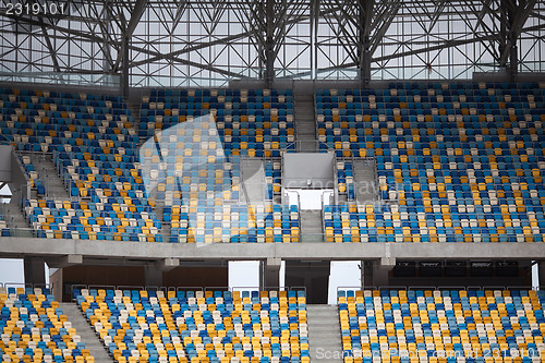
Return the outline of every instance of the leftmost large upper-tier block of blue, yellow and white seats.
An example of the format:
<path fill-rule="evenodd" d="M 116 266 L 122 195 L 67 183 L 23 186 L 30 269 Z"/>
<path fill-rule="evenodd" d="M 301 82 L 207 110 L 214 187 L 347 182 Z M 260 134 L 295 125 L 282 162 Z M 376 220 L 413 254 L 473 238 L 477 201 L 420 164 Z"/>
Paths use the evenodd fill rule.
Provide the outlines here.
<path fill-rule="evenodd" d="M 25 201 L 38 237 L 160 241 L 144 195 L 140 143 L 119 96 L 0 89 L 0 129 L 20 153 L 51 153 L 75 201 Z M 45 187 L 21 156 L 38 196 Z"/>

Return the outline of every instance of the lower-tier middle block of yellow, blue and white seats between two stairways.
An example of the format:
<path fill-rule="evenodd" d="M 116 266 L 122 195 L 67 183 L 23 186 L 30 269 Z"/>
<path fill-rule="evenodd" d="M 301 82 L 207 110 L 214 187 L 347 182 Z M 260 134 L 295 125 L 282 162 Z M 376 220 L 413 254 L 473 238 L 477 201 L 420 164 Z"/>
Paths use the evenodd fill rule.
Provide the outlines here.
<path fill-rule="evenodd" d="M 303 291 L 74 294 L 117 362 L 308 362 Z"/>

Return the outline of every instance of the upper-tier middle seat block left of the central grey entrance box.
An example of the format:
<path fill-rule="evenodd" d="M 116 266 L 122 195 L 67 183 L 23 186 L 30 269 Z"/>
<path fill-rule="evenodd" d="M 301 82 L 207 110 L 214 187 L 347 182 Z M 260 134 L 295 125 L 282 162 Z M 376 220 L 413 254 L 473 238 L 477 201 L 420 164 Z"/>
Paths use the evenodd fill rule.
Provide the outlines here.
<path fill-rule="evenodd" d="M 157 99 L 162 97 L 157 96 L 159 92 L 155 92 L 153 101 L 143 108 L 144 120 L 149 120 L 149 113 L 155 114 L 157 120 L 169 120 L 147 122 L 147 126 L 152 128 L 148 130 L 154 131 L 157 126 L 164 130 L 155 130 L 154 137 L 143 144 L 141 165 L 145 169 L 144 182 L 148 196 L 165 201 L 164 220 L 170 223 L 170 242 L 298 242 L 296 207 L 272 206 L 271 203 L 275 192 L 280 192 L 280 162 L 264 161 L 265 195 L 258 199 L 249 199 L 249 194 L 243 191 L 241 176 L 242 156 L 267 154 L 259 154 L 259 147 L 270 144 L 264 141 L 265 136 L 268 135 L 270 140 L 280 137 L 272 143 L 282 148 L 287 146 L 281 138 L 282 130 L 287 131 L 289 126 L 288 130 L 292 131 L 293 123 L 288 125 L 279 120 L 287 118 L 287 111 L 291 112 L 291 100 L 286 100 L 287 97 L 281 95 L 262 97 L 251 92 L 250 96 L 242 96 L 243 92 L 226 89 L 196 92 L 199 96 L 189 96 L 189 93 L 191 90 L 175 93 L 180 99 L 191 99 L 193 106 L 189 109 L 173 111 L 167 106 L 166 109 L 162 106 L 157 109 Z M 214 96 L 214 93 L 220 95 Z M 232 95 L 225 96 L 229 93 Z M 234 113 L 231 112 L 233 108 L 227 106 L 233 102 L 233 97 L 238 99 L 234 104 L 239 105 L 234 107 Z M 278 105 L 272 106 L 277 108 L 282 106 L 281 114 L 278 114 L 278 109 L 270 111 L 267 101 L 256 102 L 259 97 L 274 99 Z M 245 100 L 242 101 L 243 98 Z M 204 107 L 210 99 L 214 99 L 214 108 Z M 184 105 L 186 102 L 182 101 Z M 170 101 L 166 105 L 174 107 Z M 265 114 L 262 112 L 264 110 L 270 112 Z M 171 112 L 190 113 L 186 118 L 177 117 L 173 120 L 170 114 L 165 114 Z M 276 129 L 264 134 L 265 123 L 276 124 Z M 256 124 L 261 124 L 259 132 L 255 129 Z M 146 123 L 141 124 L 141 128 Z M 250 141 L 244 142 L 241 141 L 243 136 L 234 136 L 239 131 L 240 134 L 249 134 Z M 275 150 L 279 149 L 275 146 Z M 272 152 L 268 155 L 278 156 Z"/>

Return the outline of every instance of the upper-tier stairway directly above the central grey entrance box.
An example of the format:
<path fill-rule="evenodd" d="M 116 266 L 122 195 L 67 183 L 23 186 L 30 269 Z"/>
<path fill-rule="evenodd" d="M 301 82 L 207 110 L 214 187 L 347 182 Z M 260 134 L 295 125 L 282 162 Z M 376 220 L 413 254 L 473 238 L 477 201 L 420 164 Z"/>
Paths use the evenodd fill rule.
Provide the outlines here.
<path fill-rule="evenodd" d="M 316 122 L 314 95 L 294 95 L 296 149 L 302 153 L 316 150 Z"/>

